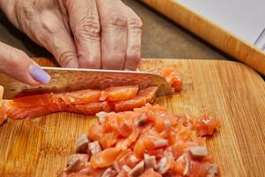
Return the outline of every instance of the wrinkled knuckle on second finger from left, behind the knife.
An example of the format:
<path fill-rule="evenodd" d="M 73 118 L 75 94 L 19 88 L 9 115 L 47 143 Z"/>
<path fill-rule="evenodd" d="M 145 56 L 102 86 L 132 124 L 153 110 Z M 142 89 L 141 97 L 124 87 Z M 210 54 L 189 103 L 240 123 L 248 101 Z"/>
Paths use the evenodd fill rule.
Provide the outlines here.
<path fill-rule="evenodd" d="M 75 36 L 85 40 L 100 40 L 101 26 L 99 19 L 83 18 L 80 20 L 79 25 L 73 32 Z"/>

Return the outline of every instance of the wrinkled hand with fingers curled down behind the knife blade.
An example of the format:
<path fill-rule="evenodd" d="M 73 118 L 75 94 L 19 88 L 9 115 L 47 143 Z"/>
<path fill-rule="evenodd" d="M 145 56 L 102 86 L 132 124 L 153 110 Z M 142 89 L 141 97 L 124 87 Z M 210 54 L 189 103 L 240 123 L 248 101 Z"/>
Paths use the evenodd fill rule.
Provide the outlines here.
<path fill-rule="evenodd" d="M 136 70 L 140 18 L 121 0 L 0 0 L 11 22 L 65 67 Z"/>

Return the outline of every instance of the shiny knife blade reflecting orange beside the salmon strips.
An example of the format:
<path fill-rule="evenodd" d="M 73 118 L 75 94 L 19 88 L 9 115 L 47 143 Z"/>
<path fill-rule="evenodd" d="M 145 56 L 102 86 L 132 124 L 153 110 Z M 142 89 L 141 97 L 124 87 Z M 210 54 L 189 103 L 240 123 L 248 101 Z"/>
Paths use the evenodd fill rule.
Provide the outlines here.
<path fill-rule="evenodd" d="M 42 67 L 51 76 L 47 85 L 29 86 L 9 76 L 0 74 L 0 85 L 4 86 L 4 99 L 42 93 L 64 93 L 80 89 L 106 89 L 110 86 L 138 85 L 140 89 L 159 86 L 157 96 L 173 94 L 169 83 L 160 75 L 147 72 L 70 69 Z"/>

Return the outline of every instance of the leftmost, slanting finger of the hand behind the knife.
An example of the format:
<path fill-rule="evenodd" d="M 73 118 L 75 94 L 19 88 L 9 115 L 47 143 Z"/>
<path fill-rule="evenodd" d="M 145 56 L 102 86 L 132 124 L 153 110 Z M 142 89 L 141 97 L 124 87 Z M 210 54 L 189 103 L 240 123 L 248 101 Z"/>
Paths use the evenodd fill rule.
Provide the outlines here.
<path fill-rule="evenodd" d="M 56 13 L 42 12 L 40 34 L 37 41 L 49 50 L 63 67 L 79 67 L 78 57 L 71 32 Z M 35 32 L 36 33 L 36 32 Z"/>

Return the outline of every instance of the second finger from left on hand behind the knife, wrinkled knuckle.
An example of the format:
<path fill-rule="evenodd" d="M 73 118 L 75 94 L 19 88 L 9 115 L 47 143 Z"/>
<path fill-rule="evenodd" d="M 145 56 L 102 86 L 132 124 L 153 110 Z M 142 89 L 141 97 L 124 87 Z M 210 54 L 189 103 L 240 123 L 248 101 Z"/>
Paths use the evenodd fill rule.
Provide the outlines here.
<path fill-rule="evenodd" d="M 65 6 L 77 47 L 79 67 L 100 69 L 101 27 L 95 0 L 68 0 Z"/>

